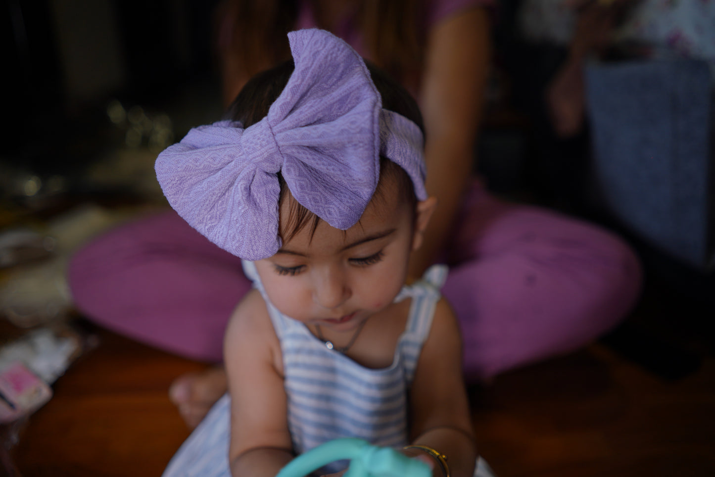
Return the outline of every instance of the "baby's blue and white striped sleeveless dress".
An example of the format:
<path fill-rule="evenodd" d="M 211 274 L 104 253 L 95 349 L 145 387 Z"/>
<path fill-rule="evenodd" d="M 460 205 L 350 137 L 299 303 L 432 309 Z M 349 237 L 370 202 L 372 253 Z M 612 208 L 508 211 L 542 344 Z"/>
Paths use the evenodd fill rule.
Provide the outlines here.
<path fill-rule="evenodd" d="M 266 300 L 280 340 L 288 424 L 296 453 L 340 437 L 363 438 L 377 446 L 405 446 L 407 392 L 430 332 L 447 268 L 431 267 L 422 280 L 405 285 L 395 298 L 398 302 L 410 297 L 412 303 L 393 364 L 383 369 L 365 368 L 342 353 L 327 349 L 303 323 L 282 315 L 267 300 L 252 262 L 244 262 L 244 270 Z M 225 395 L 179 448 L 164 477 L 230 477 L 229 438 L 230 398 Z M 345 462 L 336 462 L 323 471 L 342 468 Z"/>

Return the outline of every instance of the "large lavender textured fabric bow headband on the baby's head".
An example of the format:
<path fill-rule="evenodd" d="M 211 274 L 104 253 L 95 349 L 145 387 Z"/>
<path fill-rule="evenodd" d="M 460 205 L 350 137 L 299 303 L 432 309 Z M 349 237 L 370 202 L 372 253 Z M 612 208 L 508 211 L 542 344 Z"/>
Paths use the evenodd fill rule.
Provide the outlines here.
<path fill-rule="evenodd" d="M 380 154 L 410 175 L 425 200 L 418 126 L 382 109 L 363 59 L 327 31 L 288 34 L 295 70 L 260 122 L 192 129 L 164 150 L 157 179 L 174 210 L 233 255 L 260 260 L 281 247 L 281 172 L 293 197 L 332 227 L 363 215 L 380 178 Z"/>

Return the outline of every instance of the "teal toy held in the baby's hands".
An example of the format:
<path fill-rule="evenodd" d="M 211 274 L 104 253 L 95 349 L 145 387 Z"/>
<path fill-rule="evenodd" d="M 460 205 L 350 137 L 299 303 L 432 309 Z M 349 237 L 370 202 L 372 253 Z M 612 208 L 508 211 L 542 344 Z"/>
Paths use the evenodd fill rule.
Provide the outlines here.
<path fill-rule="evenodd" d="M 344 477 L 432 477 L 430 467 L 389 447 L 342 438 L 328 441 L 290 461 L 276 477 L 304 477 L 331 462 L 350 459 Z"/>

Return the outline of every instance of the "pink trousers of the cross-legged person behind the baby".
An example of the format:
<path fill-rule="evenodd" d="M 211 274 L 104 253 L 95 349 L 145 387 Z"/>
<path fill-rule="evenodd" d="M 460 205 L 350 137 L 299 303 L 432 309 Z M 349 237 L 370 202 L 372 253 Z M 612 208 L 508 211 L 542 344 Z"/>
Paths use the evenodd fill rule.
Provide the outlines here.
<path fill-rule="evenodd" d="M 641 268 L 618 237 L 475 182 L 445 250 L 443 294 L 461 323 L 465 375 L 567 353 L 635 303 Z M 218 362 L 227 320 L 250 289 L 241 261 L 174 211 L 107 232 L 74 255 L 77 308 L 106 328 L 188 358 Z"/>

